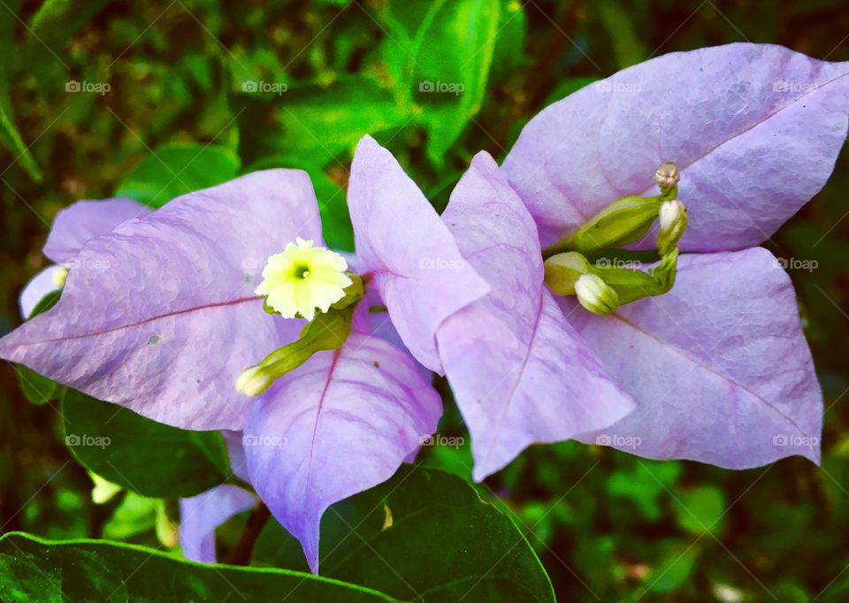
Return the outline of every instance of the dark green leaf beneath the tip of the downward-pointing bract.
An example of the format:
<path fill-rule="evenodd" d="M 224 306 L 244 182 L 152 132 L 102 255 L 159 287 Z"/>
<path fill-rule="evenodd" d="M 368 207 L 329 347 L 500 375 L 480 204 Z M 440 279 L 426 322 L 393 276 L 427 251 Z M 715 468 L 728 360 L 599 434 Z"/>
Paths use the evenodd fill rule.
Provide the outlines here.
<path fill-rule="evenodd" d="M 321 523 L 319 569 L 403 600 L 553 601 L 539 559 L 516 525 L 463 479 L 402 466 L 343 500 Z M 253 559 L 305 567 L 300 546 L 266 527 Z"/>

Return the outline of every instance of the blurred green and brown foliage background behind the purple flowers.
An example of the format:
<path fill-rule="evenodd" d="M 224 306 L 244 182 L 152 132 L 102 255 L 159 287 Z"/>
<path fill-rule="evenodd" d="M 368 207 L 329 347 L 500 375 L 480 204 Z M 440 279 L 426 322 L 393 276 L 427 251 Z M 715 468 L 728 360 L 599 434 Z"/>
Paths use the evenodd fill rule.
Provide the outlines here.
<path fill-rule="evenodd" d="M 744 40 L 847 60 L 847 31 L 834 0 L 4 0 L 0 331 L 19 324 L 18 292 L 45 265 L 52 217 L 74 200 L 159 205 L 236 173 L 298 167 L 326 239 L 351 248 L 343 189 L 363 134 L 441 210 L 470 156 L 503 157 L 547 103 L 617 69 Z M 514 517 L 561 600 L 849 598 L 847 188 L 844 152 L 767 245 L 810 261 L 790 272 L 825 393 L 822 468 L 794 458 L 735 472 L 574 442 L 532 448 L 478 490 Z M 2 370 L 3 530 L 168 540 L 161 525 L 157 538 L 161 500 L 91 501 L 55 392 L 33 377 L 22 393 Z M 440 432 L 468 438 L 450 400 Z M 423 458 L 470 477 L 468 439 Z"/>

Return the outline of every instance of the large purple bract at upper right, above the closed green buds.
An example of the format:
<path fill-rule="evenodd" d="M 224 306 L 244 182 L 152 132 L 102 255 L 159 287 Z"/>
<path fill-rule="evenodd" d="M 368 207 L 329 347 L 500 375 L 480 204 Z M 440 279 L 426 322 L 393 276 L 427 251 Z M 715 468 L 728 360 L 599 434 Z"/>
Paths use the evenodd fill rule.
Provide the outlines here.
<path fill-rule="evenodd" d="M 654 169 L 675 161 L 680 248 L 746 248 L 825 184 L 847 111 L 849 63 L 767 44 L 675 52 L 541 111 L 503 169 L 547 246 L 620 197 L 656 194 Z"/>

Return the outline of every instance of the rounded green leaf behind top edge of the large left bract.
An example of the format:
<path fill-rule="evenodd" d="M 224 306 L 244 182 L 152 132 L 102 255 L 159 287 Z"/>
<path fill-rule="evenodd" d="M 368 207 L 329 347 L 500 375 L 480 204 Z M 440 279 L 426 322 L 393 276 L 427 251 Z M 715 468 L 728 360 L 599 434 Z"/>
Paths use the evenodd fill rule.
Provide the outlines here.
<path fill-rule="evenodd" d="M 121 180 L 115 196 L 158 208 L 180 195 L 233 179 L 240 168 L 239 156 L 226 147 L 172 142 L 145 157 Z"/>

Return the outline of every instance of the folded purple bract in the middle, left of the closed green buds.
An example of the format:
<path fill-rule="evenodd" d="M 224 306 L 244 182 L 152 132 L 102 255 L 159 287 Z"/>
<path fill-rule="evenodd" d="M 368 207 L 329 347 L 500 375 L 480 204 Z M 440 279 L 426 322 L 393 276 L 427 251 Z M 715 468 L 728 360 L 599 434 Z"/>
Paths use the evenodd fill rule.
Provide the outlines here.
<path fill-rule="evenodd" d="M 481 480 L 534 443 L 606 427 L 633 408 L 543 288 L 537 229 L 478 153 L 442 216 L 492 292 L 437 333 Z"/>

